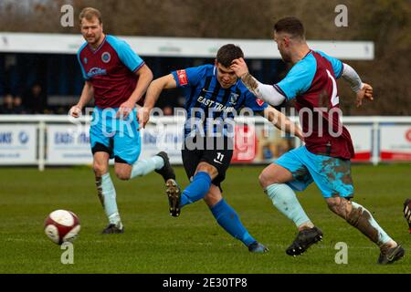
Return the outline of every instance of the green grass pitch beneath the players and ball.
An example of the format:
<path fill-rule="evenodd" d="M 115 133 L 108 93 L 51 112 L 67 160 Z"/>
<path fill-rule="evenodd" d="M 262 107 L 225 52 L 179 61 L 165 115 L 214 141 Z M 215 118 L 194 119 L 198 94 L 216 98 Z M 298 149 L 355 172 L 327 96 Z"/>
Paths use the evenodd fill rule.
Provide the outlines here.
<path fill-rule="evenodd" d="M 90 168 L 1 168 L 0 273 L 410 273 L 411 235 L 402 214 L 403 202 L 411 197 L 409 164 L 353 166 L 355 201 L 406 248 L 406 256 L 390 266 L 376 264 L 378 248 L 332 214 L 314 185 L 299 198 L 322 229 L 323 241 L 304 255 L 286 255 L 296 229 L 261 191 L 262 169 L 231 167 L 223 184 L 227 202 L 250 234 L 269 247 L 269 253 L 255 255 L 216 224 L 203 202 L 171 217 L 157 173 L 130 182 L 113 179 L 125 233 L 100 235 L 107 220 Z M 176 172 L 184 187 L 183 168 Z M 61 264 L 64 250 L 43 232 L 47 214 L 56 209 L 79 215 L 74 265 Z M 348 245 L 347 265 L 334 261 L 338 242 Z"/>

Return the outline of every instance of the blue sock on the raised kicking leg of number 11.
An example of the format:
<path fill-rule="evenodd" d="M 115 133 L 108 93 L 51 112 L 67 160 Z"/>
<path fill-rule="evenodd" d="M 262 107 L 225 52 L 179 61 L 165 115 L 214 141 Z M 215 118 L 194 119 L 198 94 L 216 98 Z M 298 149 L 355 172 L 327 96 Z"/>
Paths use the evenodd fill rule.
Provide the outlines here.
<path fill-rule="evenodd" d="M 191 182 L 181 194 L 180 207 L 186 204 L 195 203 L 203 199 L 211 187 L 211 177 L 207 172 L 197 172 Z"/>

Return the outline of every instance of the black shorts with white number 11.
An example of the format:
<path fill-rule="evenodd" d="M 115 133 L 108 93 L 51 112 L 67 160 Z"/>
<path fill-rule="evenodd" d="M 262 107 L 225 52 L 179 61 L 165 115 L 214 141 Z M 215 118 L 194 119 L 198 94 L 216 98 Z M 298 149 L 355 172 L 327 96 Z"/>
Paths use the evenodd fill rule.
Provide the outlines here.
<path fill-rule="evenodd" d="M 184 170 L 188 179 L 191 181 L 200 162 L 207 162 L 213 165 L 216 167 L 218 174 L 212 183 L 221 190 L 220 183 L 226 178 L 226 172 L 233 157 L 232 141 L 227 138 L 224 138 L 224 141 L 221 141 L 221 138 L 219 139 L 220 141 L 216 141 L 216 138 L 207 138 L 206 140 L 207 141 L 204 139 L 204 141 L 200 143 L 203 143 L 204 147 L 199 147 L 194 150 L 186 147 L 186 143 L 184 142 L 183 150 L 181 151 Z M 210 145 L 213 145 L 213 147 Z"/>

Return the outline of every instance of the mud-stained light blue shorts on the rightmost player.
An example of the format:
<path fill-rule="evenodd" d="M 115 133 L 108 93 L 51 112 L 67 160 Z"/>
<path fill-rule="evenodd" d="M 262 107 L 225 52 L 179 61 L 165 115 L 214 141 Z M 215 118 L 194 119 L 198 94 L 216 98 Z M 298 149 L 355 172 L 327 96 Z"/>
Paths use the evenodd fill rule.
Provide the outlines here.
<path fill-rule="evenodd" d="M 303 191 L 315 182 L 324 198 L 353 197 L 350 160 L 313 154 L 301 146 L 288 151 L 274 163 L 292 173 L 294 180 L 287 184 L 295 191 Z"/>

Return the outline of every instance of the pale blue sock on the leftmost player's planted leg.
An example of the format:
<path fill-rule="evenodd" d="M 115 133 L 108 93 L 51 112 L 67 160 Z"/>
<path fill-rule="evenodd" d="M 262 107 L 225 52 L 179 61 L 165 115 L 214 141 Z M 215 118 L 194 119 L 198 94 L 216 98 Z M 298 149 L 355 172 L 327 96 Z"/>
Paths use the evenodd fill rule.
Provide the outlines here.
<path fill-rule="evenodd" d="M 100 184 L 100 185 L 99 185 Z M 116 203 L 116 190 L 111 182 L 110 173 L 107 172 L 101 176 L 101 181 L 97 181 L 97 188 L 101 196 L 104 211 L 111 224 L 121 224 L 121 218 Z"/>

